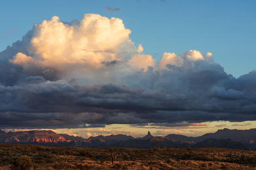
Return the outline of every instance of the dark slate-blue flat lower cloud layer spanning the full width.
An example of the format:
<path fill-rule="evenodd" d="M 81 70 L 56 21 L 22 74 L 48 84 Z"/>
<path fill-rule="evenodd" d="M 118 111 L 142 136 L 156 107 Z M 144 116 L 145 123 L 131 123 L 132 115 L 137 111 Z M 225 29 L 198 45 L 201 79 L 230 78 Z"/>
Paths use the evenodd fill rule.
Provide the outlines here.
<path fill-rule="evenodd" d="M 138 74 L 141 81 L 147 77 L 148 84 L 153 78 L 154 85 L 146 89 L 112 83 L 78 85 L 76 81 L 47 81 L 42 76 L 29 76 L 24 83 L 12 87 L 1 85 L 1 127 L 256 120 L 255 92 L 244 89 L 250 87 L 248 80 L 253 73 L 244 76 L 243 81 L 243 77 L 196 71 L 180 74 L 178 82 L 172 80 L 171 71 L 161 75 L 150 70 Z M 228 81 L 237 88 L 227 89 Z M 172 83 L 180 83 L 180 89 Z"/>

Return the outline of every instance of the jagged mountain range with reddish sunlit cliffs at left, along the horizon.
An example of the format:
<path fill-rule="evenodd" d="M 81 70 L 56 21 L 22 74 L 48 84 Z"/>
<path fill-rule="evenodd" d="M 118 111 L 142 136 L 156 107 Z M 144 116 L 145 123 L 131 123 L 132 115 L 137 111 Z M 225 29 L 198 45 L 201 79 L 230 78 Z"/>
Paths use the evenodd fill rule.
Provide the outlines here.
<path fill-rule="evenodd" d="M 95 136 L 84 139 L 68 134 L 56 134 L 53 131 L 4 132 L 0 130 L 0 143 L 35 144 L 44 146 L 77 146 L 85 148 L 236 148 L 256 150 L 256 129 L 236 130 L 220 129 L 198 137 L 180 134 L 134 138 L 125 134 Z"/>

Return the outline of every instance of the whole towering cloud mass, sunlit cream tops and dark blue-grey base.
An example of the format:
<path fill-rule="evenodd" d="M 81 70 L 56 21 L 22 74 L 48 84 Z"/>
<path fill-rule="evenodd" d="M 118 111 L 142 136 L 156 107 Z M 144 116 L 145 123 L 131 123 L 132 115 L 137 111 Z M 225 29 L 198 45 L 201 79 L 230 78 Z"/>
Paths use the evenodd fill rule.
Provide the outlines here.
<path fill-rule="evenodd" d="M 134 46 L 122 20 L 86 14 L 35 24 L 0 53 L 0 126 L 256 120 L 256 72 L 225 73 L 211 53 Z"/>

